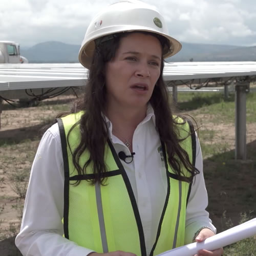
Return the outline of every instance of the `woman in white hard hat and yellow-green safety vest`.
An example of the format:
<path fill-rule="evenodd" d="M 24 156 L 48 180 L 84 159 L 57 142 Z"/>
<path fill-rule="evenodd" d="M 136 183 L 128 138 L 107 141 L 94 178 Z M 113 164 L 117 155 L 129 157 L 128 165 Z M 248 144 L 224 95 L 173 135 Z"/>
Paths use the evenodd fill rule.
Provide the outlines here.
<path fill-rule="evenodd" d="M 180 49 L 143 3 L 92 20 L 79 52 L 84 98 L 45 133 L 32 166 L 24 255 L 157 255 L 215 234 L 195 131 L 172 116 L 162 78 Z"/>

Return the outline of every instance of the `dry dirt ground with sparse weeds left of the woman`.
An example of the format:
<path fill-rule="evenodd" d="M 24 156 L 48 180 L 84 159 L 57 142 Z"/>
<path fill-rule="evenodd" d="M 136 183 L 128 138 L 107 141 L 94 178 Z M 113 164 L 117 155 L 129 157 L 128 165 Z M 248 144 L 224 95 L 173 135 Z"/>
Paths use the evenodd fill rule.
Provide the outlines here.
<path fill-rule="evenodd" d="M 19 227 L 24 198 L 20 198 L 14 191 L 17 190 L 17 186 L 13 183 L 16 181 L 17 174 L 21 172 L 24 180 L 20 180 L 20 190 L 23 194 L 25 193 L 24 186 L 27 185 L 33 157 L 42 135 L 41 128 L 60 112 L 58 109 L 52 108 L 51 105 L 54 103 L 67 104 L 67 108 L 69 108 L 72 99 L 74 97 L 59 96 L 46 100 L 44 103 L 46 105 L 43 107 L 22 109 L 15 109 L 3 102 L 0 141 L 7 141 L 7 145 L 11 146 L 6 147 L 0 144 L 0 234 L 1 230 L 2 232 L 3 230 L 4 232 L 10 231 L 10 223 L 13 228 Z M 49 106 L 47 102 L 50 104 Z M 24 143 L 19 144 L 19 142 Z M 1 155 L 5 158 L 2 158 Z"/>

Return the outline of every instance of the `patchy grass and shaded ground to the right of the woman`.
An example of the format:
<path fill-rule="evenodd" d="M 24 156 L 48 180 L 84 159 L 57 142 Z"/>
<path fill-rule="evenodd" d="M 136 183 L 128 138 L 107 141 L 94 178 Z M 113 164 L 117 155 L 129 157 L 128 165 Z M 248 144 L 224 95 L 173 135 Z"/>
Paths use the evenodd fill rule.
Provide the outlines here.
<path fill-rule="evenodd" d="M 247 144 L 247 161 L 234 160 L 235 103 L 222 93 L 178 93 L 178 109 L 198 122 L 210 218 L 222 231 L 256 217 L 256 140 Z M 256 93 L 246 96 L 246 123 L 256 123 Z M 221 126 L 230 127 L 223 134 Z M 253 126 L 255 127 L 255 126 Z M 231 185 L 233 183 L 233 185 Z M 243 212 L 243 214 L 239 214 Z M 227 216 L 223 216 L 225 213 Z M 227 221 L 229 220 L 229 221 Z M 224 248 L 224 256 L 256 255 L 256 236 Z"/>

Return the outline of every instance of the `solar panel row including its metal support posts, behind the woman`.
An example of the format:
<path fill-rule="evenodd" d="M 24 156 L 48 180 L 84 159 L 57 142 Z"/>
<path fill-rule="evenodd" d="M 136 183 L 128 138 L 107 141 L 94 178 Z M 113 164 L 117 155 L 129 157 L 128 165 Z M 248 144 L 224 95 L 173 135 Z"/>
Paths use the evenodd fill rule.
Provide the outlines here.
<path fill-rule="evenodd" d="M 16 97 L 24 89 L 82 87 L 88 70 L 80 63 L 2 64 L 0 65 L 0 96 Z M 230 80 L 236 87 L 236 159 L 246 159 L 246 93 L 250 80 L 256 77 L 256 61 L 232 62 L 173 62 L 165 63 L 163 78 L 173 87 L 177 101 L 177 86 L 203 82 Z M 243 82 L 240 82 L 243 78 Z M 228 97 L 225 84 L 225 97 Z M 1 115 L 1 101 L 0 101 Z"/>

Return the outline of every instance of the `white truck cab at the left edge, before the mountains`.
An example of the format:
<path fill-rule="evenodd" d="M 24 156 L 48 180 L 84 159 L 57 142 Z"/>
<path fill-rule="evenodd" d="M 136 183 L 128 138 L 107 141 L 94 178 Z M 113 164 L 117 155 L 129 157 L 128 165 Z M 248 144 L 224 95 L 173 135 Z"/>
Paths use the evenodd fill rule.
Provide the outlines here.
<path fill-rule="evenodd" d="M 20 56 L 19 44 L 13 41 L 0 41 L 0 63 L 28 63 L 28 59 Z"/>

